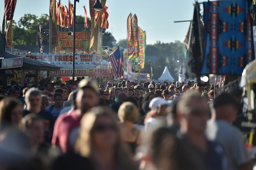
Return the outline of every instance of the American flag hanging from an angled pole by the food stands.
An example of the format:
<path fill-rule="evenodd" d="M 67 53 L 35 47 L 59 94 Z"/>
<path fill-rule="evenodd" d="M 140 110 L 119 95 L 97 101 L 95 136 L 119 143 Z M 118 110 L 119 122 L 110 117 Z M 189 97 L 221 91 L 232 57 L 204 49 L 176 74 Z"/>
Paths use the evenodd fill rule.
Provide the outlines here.
<path fill-rule="evenodd" d="M 109 54 L 109 58 L 116 78 L 122 77 L 124 74 L 123 51 L 120 52 L 119 46 L 111 54 Z"/>

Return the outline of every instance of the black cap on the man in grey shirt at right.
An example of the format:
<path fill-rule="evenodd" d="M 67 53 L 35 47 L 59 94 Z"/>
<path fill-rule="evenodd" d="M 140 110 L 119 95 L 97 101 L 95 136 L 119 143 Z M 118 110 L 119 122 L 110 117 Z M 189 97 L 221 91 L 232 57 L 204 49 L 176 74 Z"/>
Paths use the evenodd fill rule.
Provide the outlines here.
<path fill-rule="evenodd" d="M 229 104 L 232 104 L 238 108 L 241 106 L 241 103 L 237 102 L 232 95 L 226 92 L 223 92 L 220 95 L 218 95 L 217 98 L 215 98 L 213 107 L 217 108 L 217 107 L 221 107 Z"/>

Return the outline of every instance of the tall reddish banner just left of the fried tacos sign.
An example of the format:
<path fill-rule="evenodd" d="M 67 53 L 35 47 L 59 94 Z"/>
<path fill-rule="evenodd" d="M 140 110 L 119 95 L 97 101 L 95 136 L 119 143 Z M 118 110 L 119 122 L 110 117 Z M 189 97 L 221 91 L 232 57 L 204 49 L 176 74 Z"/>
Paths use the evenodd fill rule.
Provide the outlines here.
<path fill-rule="evenodd" d="M 58 31 L 57 31 L 57 17 L 56 17 L 56 0 L 50 0 L 50 53 L 60 51 Z"/>

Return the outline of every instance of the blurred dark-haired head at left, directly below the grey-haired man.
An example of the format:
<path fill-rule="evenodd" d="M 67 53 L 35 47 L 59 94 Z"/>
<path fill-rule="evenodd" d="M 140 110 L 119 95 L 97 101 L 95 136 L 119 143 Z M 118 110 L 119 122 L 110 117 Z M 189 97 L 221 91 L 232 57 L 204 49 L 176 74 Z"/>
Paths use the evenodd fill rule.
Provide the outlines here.
<path fill-rule="evenodd" d="M 20 129 L 30 137 L 36 147 L 44 142 L 45 125 L 44 120 L 39 115 L 27 114 L 22 118 Z"/>

